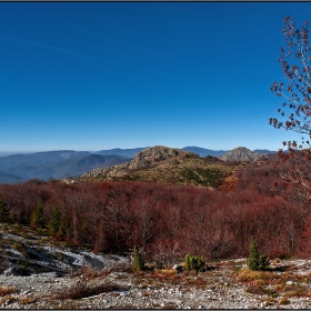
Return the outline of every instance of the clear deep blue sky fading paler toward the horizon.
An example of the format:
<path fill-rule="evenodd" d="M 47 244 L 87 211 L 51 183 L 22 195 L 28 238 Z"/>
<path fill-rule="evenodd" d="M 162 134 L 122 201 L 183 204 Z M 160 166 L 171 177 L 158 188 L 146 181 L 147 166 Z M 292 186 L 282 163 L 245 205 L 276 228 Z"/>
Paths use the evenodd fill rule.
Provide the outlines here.
<path fill-rule="evenodd" d="M 0 152 L 281 148 L 268 124 L 310 2 L 0 2 Z M 299 136 L 300 137 L 300 136 Z"/>

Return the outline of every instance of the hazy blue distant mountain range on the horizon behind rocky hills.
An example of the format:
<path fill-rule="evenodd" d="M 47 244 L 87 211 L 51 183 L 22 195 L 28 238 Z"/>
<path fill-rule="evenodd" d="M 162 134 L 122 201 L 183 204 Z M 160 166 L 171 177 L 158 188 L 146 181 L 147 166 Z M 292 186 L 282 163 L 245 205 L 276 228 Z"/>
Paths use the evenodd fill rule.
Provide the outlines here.
<path fill-rule="evenodd" d="M 97 168 L 113 167 L 130 162 L 144 148 L 110 149 L 101 151 L 46 151 L 0 157 L 0 183 L 23 182 L 30 179 L 48 180 L 79 177 Z M 210 150 L 200 147 L 184 147 L 200 157 L 220 157 L 228 151 Z M 258 153 L 273 153 L 269 150 L 254 150 Z"/>

